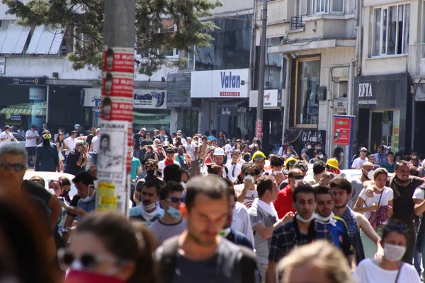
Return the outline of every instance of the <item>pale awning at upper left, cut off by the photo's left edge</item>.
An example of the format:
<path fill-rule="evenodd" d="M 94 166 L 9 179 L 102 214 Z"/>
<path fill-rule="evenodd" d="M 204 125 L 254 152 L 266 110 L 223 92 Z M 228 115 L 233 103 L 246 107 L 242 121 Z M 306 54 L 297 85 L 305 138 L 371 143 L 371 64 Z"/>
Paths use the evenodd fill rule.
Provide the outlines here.
<path fill-rule="evenodd" d="M 0 53 L 21 54 L 29 34 L 30 27 L 17 25 L 15 21 L 2 21 L 0 27 Z"/>

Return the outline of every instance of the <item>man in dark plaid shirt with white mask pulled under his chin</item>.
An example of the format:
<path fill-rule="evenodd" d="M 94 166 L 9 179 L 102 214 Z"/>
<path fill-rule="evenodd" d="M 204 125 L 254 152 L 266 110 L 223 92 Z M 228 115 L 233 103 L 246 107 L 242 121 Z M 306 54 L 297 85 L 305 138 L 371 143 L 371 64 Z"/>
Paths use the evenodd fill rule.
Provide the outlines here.
<path fill-rule="evenodd" d="M 294 207 L 297 211 L 293 221 L 283 224 L 273 231 L 266 283 L 276 282 L 276 267 L 281 258 L 297 246 L 306 245 L 324 239 L 333 242 L 332 233 L 327 226 L 315 221 L 316 191 L 311 185 L 298 186 L 293 195 Z"/>

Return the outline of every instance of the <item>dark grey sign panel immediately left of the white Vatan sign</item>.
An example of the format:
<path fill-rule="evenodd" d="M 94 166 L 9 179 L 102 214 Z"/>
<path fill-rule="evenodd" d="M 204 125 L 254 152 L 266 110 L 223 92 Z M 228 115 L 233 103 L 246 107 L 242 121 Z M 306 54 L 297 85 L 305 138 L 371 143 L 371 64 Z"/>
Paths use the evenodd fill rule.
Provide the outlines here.
<path fill-rule="evenodd" d="M 175 73 L 167 76 L 168 108 L 190 108 L 191 100 L 191 73 Z"/>

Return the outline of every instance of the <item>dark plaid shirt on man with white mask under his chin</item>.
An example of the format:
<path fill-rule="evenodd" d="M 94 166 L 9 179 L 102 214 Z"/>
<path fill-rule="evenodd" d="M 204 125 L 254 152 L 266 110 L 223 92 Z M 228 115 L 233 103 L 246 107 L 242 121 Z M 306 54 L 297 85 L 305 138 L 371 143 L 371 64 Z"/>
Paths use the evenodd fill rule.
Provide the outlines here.
<path fill-rule="evenodd" d="M 293 250 L 293 248 L 296 248 L 296 246 L 302 246 L 311 242 L 308 236 L 303 233 L 300 233 L 299 237 L 296 236 L 295 221 L 297 221 L 297 219 L 294 218 L 293 221 L 285 223 L 273 231 L 270 252 L 268 253 L 269 261 L 278 262 Z M 315 225 L 314 229 L 317 231 L 314 240 L 325 239 L 329 241 L 329 243 L 333 243 L 332 233 L 326 225 L 318 223 L 315 220 L 312 221 L 310 225 Z"/>

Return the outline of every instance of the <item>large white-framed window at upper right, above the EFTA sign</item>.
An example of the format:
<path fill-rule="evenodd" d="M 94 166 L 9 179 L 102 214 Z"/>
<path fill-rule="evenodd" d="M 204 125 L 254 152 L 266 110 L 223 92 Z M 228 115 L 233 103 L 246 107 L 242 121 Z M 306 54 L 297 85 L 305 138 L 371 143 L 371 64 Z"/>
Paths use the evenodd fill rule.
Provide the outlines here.
<path fill-rule="evenodd" d="M 406 54 L 409 43 L 410 5 L 375 8 L 373 56 Z"/>

